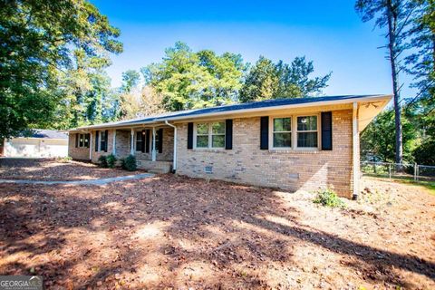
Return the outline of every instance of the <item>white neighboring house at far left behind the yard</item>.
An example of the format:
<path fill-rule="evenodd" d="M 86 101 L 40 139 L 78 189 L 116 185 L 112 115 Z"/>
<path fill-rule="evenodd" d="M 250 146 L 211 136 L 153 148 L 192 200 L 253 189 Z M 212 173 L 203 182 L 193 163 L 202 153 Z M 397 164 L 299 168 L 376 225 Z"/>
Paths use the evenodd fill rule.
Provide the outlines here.
<path fill-rule="evenodd" d="M 4 140 L 3 155 L 32 158 L 66 157 L 68 156 L 68 135 L 53 130 L 36 129 L 30 137 Z"/>

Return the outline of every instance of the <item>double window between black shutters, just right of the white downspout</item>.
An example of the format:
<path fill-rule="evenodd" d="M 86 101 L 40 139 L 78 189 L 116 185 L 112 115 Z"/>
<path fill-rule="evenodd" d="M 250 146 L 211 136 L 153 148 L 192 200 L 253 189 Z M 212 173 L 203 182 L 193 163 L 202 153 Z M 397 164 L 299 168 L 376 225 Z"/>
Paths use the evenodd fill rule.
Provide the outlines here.
<path fill-rule="evenodd" d="M 198 123 L 197 148 L 224 148 L 225 122 Z"/>

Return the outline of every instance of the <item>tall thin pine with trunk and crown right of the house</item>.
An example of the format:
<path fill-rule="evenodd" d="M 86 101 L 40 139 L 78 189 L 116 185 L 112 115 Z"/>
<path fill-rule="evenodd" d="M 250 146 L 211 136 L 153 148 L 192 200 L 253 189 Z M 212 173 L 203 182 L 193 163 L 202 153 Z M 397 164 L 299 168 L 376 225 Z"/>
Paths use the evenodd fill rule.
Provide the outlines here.
<path fill-rule="evenodd" d="M 395 118 L 395 161 L 403 161 L 402 128 L 401 128 L 401 95 L 399 72 L 401 53 L 405 49 L 404 41 L 407 29 L 411 24 L 414 7 L 409 0 L 357 0 L 356 11 L 361 14 L 362 21 L 376 19 L 375 25 L 386 29 L 388 57 L 391 65 L 392 93 L 394 98 Z"/>

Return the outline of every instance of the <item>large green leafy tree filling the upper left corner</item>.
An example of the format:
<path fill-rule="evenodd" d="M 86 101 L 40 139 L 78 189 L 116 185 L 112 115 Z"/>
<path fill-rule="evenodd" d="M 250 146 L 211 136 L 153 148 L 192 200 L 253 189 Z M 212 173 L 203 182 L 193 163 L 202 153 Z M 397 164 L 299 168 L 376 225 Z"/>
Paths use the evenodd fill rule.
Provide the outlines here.
<path fill-rule="evenodd" d="M 84 0 L 1 0 L 0 138 L 55 119 L 74 51 L 121 53 L 120 31 Z"/>

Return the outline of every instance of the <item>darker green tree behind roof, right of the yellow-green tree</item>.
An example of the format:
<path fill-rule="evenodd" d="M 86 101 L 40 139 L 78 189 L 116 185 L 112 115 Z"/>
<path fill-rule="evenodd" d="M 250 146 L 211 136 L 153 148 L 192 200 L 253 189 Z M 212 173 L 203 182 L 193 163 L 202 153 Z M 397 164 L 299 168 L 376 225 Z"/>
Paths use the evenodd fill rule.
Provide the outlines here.
<path fill-rule="evenodd" d="M 331 73 L 323 77 L 310 78 L 314 73 L 313 62 L 304 57 L 296 57 L 291 64 L 260 56 L 247 74 L 240 91 L 240 102 L 253 102 L 267 99 L 302 98 L 322 92 L 327 86 Z"/>

